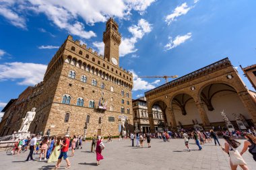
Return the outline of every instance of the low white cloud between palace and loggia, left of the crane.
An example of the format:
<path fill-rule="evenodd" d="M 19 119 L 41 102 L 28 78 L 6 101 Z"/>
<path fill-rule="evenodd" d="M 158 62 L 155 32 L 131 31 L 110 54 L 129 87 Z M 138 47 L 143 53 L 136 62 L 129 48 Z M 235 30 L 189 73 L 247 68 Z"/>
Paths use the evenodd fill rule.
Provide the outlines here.
<path fill-rule="evenodd" d="M 133 73 L 133 91 L 149 90 L 155 88 L 155 86 L 152 83 L 149 83 L 148 81 L 144 81 L 141 78 L 139 78 L 134 71 L 130 72 Z"/>

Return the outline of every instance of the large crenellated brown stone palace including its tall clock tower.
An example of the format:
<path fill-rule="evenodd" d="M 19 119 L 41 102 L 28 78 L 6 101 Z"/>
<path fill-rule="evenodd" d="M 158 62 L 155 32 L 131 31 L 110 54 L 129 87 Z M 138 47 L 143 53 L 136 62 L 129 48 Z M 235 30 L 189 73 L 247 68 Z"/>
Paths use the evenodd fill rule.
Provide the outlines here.
<path fill-rule="evenodd" d="M 68 36 L 49 62 L 43 81 L 5 108 L 0 134 L 17 131 L 31 108 L 36 108 L 32 133 L 51 129 L 55 135 L 84 134 L 86 129 L 87 136 L 117 136 L 123 115 L 126 129 L 133 130 L 133 75 L 119 67 L 121 34 L 113 18 L 106 22 L 103 42 L 104 56 Z"/>

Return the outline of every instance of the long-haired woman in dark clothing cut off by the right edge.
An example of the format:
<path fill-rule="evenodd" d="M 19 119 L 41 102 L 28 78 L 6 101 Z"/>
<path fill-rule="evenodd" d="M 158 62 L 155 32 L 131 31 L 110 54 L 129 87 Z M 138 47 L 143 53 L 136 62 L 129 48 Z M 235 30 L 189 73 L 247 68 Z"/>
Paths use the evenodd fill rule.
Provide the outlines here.
<path fill-rule="evenodd" d="M 249 148 L 249 153 L 253 155 L 253 159 L 254 161 L 256 161 L 256 136 L 247 133 L 245 134 L 245 138 L 247 138 L 248 140 L 244 142 L 244 147 L 240 154 L 243 155 L 243 153 L 247 151 L 247 148 Z"/>

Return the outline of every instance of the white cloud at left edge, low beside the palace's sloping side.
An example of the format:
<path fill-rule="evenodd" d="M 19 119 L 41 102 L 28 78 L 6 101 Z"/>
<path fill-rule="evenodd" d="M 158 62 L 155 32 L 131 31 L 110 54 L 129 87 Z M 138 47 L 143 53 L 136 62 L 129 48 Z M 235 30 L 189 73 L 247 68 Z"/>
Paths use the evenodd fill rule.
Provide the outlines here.
<path fill-rule="evenodd" d="M 7 62 L 0 65 L 0 81 L 21 80 L 18 85 L 35 85 L 40 83 L 44 77 L 47 65 L 26 63 L 26 62 Z"/>

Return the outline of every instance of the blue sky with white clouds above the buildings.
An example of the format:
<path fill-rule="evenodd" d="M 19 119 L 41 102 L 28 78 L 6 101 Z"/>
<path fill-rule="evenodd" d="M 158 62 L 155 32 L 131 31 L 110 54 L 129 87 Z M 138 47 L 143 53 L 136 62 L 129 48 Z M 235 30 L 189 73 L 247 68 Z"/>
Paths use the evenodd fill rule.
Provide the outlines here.
<path fill-rule="evenodd" d="M 120 65 L 134 73 L 133 99 L 164 83 L 137 76 L 181 77 L 227 56 L 234 67 L 256 62 L 256 1 L 111 2 L 1 0 L 0 110 L 28 85 L 42 81 L 68 34 L 102 52 L 102 32 L 110 16 L 122 35 Z"/>

